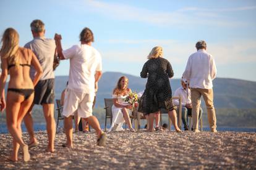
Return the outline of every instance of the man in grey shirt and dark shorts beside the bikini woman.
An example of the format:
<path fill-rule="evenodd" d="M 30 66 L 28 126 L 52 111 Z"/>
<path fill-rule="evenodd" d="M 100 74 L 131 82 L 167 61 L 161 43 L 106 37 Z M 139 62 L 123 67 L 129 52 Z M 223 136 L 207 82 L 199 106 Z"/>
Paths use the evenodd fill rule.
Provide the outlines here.
<path fill-rule="evenodd" d="M 33 105 L 42 105 L 46 119 L 46 130 L 48 134 L 48 152 L 54 152 L 55 120 L 54 120 L 54 73 L 53 60 L 56 52 L 54 39 L 45 38 L 45 24 L 41 20 L 33 20 L 30 24 L 33 40 L 25 44 L 25 48 L 32 49 L 38 58 L 43 75 L 35 86 L 35 98 L 30 110 L 24 117 L 24 123 L 30 136 L 28 147 L 35 147 L 37 142 L 33 130 L 33 119 L 31 116 Z M 35 69 L 30 69 L 30 77 L 33 79 Z"/>

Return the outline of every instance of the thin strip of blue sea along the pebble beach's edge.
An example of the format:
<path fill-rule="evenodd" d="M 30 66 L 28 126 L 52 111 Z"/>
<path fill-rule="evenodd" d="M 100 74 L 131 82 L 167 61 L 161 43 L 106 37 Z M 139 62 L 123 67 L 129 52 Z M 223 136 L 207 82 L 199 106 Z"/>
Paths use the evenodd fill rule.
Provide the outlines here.
<path fill-rule="evenodd" d="M 60 124 L 61 127 L 62 124 Z M 110 126 L 107 126 L 109 128 Z M 101 124 L 101 128 L 104 129 L 103 124 Z M 173 128 L 173 127 L 172 127 Z M 35 131 L 45 131 L 46 130 L 46 124 L 45 123 L 34 123 L 34 130 Z M 256 128 L 244 128 L 244 127 L 221 127 L 218 126 L 217 130 L 220 132 L 223 131 L 233 131 L 233 132 L 256 132 Z M 27 129 L 25 128 L 25 125 L 22 124 L 22 131 L 27 132 Z M 203 131 L 210 131 L 209 127 L 204 127 Z M 0 134 L 6 134 L 8 133 L 8 129 L 6 127 L 6 124 L 0 124 Z"/>

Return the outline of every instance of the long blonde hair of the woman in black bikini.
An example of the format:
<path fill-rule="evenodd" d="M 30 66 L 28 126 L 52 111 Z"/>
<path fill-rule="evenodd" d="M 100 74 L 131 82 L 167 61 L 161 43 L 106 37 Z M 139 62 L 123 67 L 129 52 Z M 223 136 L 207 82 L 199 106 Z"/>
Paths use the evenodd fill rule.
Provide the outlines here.
<path fill-rule="evenodd" d="M 1 58 L 8 63 L 19 65 L 19 34 L 14 28 L 7 28 L 2 35 Z"/>

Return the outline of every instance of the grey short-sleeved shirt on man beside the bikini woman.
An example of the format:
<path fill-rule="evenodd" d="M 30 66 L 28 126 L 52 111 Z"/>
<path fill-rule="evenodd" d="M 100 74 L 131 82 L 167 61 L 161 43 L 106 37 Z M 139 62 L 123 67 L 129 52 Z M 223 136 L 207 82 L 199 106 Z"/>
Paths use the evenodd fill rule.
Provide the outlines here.
<path fill-rule="evenodd" d="M 25 48 L 32 49 L 37 59 L 43 68 L 43 75 L 40 80 L 54 78 L 53 73 L 53 60 L 55 54 L 55 41 L 53 39 L 46 38 L 34 38 L 24 46 Z M 30 69 L 30 77 L 34 78 L 35 69 Z"/>

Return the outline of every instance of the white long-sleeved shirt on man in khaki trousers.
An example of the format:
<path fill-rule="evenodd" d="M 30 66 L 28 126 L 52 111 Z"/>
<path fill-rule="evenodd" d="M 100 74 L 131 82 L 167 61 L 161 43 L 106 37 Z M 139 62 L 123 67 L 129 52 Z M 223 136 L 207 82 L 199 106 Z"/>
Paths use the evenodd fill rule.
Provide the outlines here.
<path fill-rule="evenodd" d="M 192 88 L 211 89 L 216 78 L 216 65 L 212 55 L 200 49 L 190 55 L 182 77 L 187 79 Z"/>

